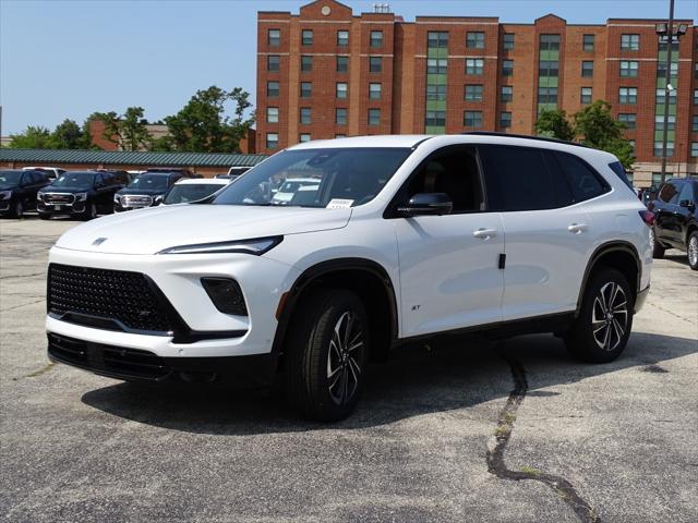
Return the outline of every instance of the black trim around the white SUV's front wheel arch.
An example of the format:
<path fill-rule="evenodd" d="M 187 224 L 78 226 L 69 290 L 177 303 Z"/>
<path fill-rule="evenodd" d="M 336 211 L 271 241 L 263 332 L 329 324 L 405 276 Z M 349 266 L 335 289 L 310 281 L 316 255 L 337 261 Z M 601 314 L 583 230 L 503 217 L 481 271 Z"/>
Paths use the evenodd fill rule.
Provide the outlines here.
<path fill-rule="evenodd" d="M 377 262 L 368 258 L 336 258 L 321 262 L 309 267 L 293 282 L 291 290 L 288 292 L 288 297 L 286 300 L 286 303 L 284 304 L 281 315 L 278 318 L 278 325 L 276 327 L 276 333 L 274 336 L 274 342 L 272 344 L 272 353 L 275 356 L 275 361 L 278 360 L 278 355 L 281 352 L 290 319 L 299 304 L 299 296 L 318 278 L 332 272 L 340 272 L 342 270 L 362 270 L 380 279 L 380 281 L 383 283 L 383 289 L 388 300 L 388 307 L 390 309 L 390 344 L 393 344 L 397 340 L 397 299 L 395 296 L 395 285 L 393 284 L 393 280 L 388 276 L 385 268 Z"/>

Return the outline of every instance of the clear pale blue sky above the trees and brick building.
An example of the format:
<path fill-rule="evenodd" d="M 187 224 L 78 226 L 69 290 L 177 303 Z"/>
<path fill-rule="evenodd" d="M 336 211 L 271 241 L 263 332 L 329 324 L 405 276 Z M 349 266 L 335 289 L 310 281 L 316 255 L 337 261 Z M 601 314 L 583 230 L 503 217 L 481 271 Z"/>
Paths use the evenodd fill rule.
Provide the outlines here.
<path fill-rule="evenodd" d="M 377 0 L 346 0 L 354 13 Z M 53 129 L 94 111 L 141 106 L 151 121 L 179 111 L 201 88 L 242 87 L 254 101 L 256 12 L 298 13 L 301 0 L 0 0 L 3 136 Z M 381 0 L 416 15 L 498 16 L 531 23 L 550 12 L 568 23 L 666 17 L 669 0 Z M 698 22 L 698 0 L 675 16 Z"/>

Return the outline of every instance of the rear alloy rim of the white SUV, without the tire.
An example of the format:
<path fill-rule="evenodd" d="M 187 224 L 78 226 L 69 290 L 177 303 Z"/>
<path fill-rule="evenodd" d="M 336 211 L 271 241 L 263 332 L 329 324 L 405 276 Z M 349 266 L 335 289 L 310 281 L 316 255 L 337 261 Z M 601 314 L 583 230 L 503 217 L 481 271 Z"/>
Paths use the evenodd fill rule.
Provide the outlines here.
<path fill-rule="evenodd" d="M 591 329 L 597 344 L 613 351 L 623 341 L 628 325 L 628 300 L 615 281 L 604 284 L 593 301 Z"/>

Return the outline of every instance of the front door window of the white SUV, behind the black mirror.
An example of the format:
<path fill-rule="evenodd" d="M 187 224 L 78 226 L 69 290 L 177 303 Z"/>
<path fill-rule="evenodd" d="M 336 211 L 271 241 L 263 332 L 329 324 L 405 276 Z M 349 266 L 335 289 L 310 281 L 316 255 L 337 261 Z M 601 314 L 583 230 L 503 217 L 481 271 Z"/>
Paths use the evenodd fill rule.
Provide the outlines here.
<path fill-rule="evenodd" d="M 407 198 L 418 193 L 446 193 L 453 214 L 484 209 L 480 170 L 472 147 L 449 147 L 436 154 L 408 182 Z"/>

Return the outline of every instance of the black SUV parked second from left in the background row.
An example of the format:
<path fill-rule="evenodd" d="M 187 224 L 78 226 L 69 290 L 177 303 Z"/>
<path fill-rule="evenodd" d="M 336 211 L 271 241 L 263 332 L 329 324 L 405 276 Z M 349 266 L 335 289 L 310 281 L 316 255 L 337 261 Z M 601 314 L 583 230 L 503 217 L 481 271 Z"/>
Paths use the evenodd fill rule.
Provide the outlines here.
<path fill-rule="evenodd" d="M 39 218 L 69 215 L 85 220 L 111 214 L 115 193 L 123 188 L 125 177 L 111 171 L 69 171 L 38 192 Z"/>

